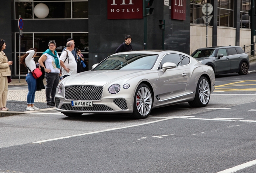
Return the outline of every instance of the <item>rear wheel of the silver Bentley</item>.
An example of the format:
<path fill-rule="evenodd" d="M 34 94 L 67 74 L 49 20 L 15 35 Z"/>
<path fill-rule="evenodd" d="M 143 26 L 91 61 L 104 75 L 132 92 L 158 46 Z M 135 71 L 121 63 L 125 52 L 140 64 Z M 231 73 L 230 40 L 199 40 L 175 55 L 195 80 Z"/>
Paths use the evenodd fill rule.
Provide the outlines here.
<path fill-rule="evenodd" d="M 196 96 L 193 101 L 188 102 L 191 107 L 205 107 L 210 101 L 210 85 L 206 77 L 201 76 L 196 87 Z"/>

